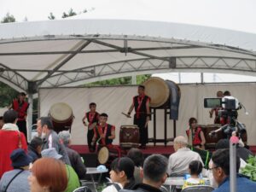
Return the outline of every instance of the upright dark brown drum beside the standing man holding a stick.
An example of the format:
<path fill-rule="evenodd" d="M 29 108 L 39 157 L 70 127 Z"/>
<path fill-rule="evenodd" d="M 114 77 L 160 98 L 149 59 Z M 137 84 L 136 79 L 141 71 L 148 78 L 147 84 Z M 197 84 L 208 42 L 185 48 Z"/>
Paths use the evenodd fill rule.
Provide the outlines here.
<path fill-rule="evenodd" d="M 121 125 L 119 131 L 120 148 L 137 148 L 140 144 L 140 133 L 137 125 Z"/>

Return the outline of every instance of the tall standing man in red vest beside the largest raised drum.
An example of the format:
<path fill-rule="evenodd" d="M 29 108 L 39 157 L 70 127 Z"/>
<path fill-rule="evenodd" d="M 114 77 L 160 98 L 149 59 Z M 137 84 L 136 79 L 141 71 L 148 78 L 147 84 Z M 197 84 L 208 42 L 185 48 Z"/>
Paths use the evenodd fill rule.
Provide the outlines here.
<path fill-rule="evenodd" d="M 138 86 L 137 93 L 138 96 L 133 97 L 128 115 L 130 116 L 133 108 L 135 108 L 133 123 L 140 130 L 140 148 L 146 148 L 146 144 L 148 143 L 148 121 L 150 119 L 150 97 L 145 95 L 145 86 L 143 85 Z"/>

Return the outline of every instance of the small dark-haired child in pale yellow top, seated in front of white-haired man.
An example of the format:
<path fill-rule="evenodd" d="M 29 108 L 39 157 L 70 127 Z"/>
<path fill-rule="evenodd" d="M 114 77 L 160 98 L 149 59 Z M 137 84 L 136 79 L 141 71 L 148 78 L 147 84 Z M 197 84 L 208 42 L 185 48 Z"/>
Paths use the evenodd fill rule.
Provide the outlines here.
<path fill-rule="evenodd" d="M 200 177 L 202 168 L 202 164 L 199 160 L 193 160 L 189 163 L 190 177 L 185 180 L 183 184 L 183 189 L 189 186 L 205 184 L 205 181 Z"/>

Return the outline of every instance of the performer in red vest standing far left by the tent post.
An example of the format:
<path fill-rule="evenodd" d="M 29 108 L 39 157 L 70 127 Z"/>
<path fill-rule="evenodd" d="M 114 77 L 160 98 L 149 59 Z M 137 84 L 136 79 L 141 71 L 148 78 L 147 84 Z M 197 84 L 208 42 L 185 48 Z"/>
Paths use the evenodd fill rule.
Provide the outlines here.
<path fill-rule="evenodd" d="M 18 121 L 17 126 L 19 130 L 24 133 L 27 141 L 26 135 L 26 115 L 27 108 L 29 107 L 29 103 L 25 101 L 26 93 L 20 92 L 17 99 L 14 99 L 9 109 L 14 109 L 18 113 Z"/>

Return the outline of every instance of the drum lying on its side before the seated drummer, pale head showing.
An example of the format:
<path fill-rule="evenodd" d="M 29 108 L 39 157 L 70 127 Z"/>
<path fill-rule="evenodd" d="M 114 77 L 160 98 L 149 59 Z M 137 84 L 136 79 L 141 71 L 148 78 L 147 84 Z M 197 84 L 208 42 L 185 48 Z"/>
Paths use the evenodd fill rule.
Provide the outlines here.
<path fill-rule="evenodd" d="M 102 147 L 98 151 L 98 162 L 102 165 L 110 167 L 112 161 L 116 158 L 124 157 L 125 151 L 121 150 L 119 147 L 108 146 Z"/>

